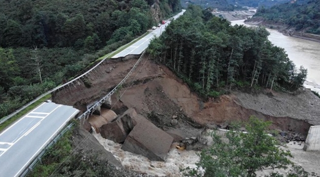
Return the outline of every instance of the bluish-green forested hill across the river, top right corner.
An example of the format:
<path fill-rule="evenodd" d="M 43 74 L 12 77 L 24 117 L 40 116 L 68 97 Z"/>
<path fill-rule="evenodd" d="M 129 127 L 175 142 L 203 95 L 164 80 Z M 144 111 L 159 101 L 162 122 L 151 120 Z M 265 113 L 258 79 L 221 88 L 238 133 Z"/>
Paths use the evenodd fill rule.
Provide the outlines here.
<path fill-rule="evenodd" d="M 271 8 L 260 7 L 254 17 L 263 17 L 296 30 L 320 34 L 319 0 L 296 0 L 294 3 L 279 4 Z"/>

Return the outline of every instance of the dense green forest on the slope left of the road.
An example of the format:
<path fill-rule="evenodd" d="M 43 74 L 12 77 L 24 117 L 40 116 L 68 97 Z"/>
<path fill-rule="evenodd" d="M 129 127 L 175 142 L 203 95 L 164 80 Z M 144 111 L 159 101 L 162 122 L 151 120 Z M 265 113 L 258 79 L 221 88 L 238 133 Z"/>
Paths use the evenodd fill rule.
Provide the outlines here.
<path fill-rule="evenodd" d="M 180 10 L 179 0 L 0 0 L 0 118 Z"/>

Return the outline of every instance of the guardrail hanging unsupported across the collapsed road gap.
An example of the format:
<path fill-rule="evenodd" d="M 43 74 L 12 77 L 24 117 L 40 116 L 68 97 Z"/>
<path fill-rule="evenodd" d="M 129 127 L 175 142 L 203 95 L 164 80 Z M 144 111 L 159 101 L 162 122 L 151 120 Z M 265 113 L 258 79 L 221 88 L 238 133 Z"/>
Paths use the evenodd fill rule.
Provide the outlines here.
<path fill-rule="evenodd" d="M 99 101 L 97 101 L 93 106 L 91 106 L 89 109 L 87 109 L 86 112 L 84 112 L 81 116 L 78 117 L 78 119 L 82 119 L 82 118 L 87 118 L 88 116 L 92 115 L 95 111 L 96 108 L 101 106 L 113 93 L 116 92 L 117 89 L 119 89 L 119 87 L 126 82 L 126 80 L 128 79 L 128 77 L 131 75 L 131 73 L 133 72 L 133 70 L 137 67 L 137 65 L 139 64 L 139 62 L 141 61 L 141 59 L 143 58 L 143 55 L 145 54 L 145 51 L 142 52 L 140 58 L 137 60 L 137 62 L 133 65 L 132 69 L 128 72 L 128 74 L 126 75 L 126 77 L 114 88 L 112 89 L 107 95 L 105 95 L 103 98 L 101 98 Z"/>

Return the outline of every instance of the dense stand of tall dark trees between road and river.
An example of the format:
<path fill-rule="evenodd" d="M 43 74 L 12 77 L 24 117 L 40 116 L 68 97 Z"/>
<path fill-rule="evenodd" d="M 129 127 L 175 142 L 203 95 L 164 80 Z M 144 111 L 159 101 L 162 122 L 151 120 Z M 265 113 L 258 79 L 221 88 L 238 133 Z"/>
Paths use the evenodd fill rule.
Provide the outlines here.
<path fill-rule="evenodd" d="M 152 40 L 148 52 L 203 96 L 217 96 L 219 90 L 234 87 L 298 89 L 307 70 L 297 70 L 268 35 L 261 27 L 232 27 L 191 5 L 160 38 Z"/>

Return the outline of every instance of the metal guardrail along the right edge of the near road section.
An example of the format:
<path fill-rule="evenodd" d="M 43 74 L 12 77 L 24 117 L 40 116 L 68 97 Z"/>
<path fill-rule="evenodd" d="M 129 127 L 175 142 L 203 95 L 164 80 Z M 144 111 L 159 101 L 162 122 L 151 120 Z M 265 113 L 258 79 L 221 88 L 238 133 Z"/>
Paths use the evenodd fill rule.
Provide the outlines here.
<path fill-rule="evenodd" d="M 41 158 L 43 157 L 43 155 L 47 152 L 47 150 L 49 150 L 50 147 L 52 147 L 53 145 L 55 145 L 57 143 L 57 141 L 64 135 L 65 132 L 67 132 L 68 130 L 71 130 L 71 127 L 74 125 L 74 123 L 70 123 L 68 126 L 66 126 L 45 148 L 43 148 L 41 150 L 41 152 L 37 155 L 37 157 L 32 161 L 32 163 L 28 166 L 28 168 L 26 168 L 22 174 L 20 175 L 20 177 L 25 177 L 28 175 L 29 172 L 32 172 L 33 168 L 35 167 L 35 165 L 41 162 Z"/>

